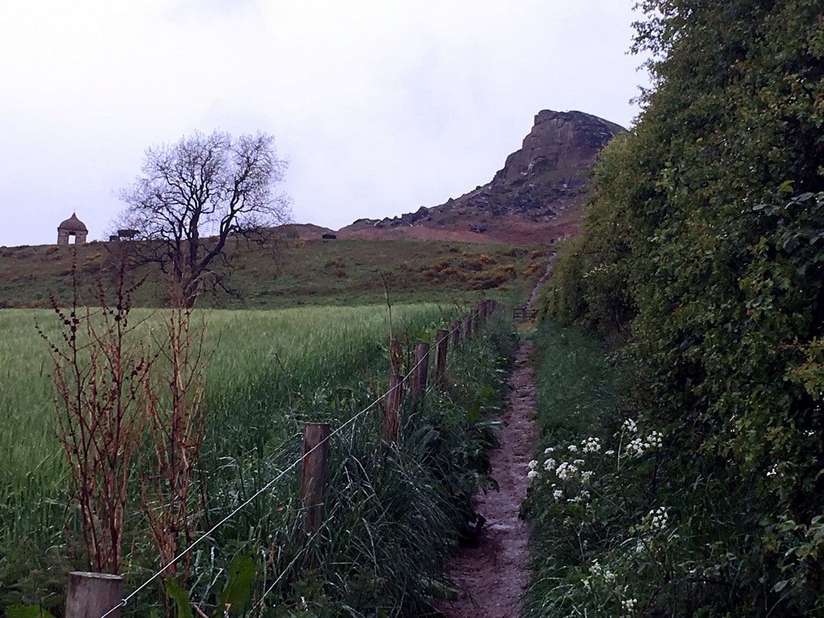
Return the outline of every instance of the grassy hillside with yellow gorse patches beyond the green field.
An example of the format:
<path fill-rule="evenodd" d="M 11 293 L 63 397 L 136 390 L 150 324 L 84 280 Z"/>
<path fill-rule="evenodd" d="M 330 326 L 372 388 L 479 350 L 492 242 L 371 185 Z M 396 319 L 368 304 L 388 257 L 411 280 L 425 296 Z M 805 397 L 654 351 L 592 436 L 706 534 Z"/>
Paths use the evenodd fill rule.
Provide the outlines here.
<path fill-rule="evenodd" d="M 108 284 L 118 273 L 127 242 L 79 246 L 21 246 L 0 250 L 0 309 L 49 307 L 51 297 L 71 301 L 73 264 L 82 280 L 82 297 L 99 279 Z M 75 257 L 75 250 L 77 251 Z M 391 302 L 464 302 L 479 295 L 503 302 L 527 302 L 549 258 L 545 246 L 457 241 L 347 241 L 320 239 L 273 241 L 266 246 L 231 243 L 230 285 L 240 295 L 206 294 L 199 307 L 281 308 L 302 305 L 360 305 Z M 146 276 L 134 302 L 140 307 L 166 304 L 166 281 L 155 265 L 140 267 Z"/>

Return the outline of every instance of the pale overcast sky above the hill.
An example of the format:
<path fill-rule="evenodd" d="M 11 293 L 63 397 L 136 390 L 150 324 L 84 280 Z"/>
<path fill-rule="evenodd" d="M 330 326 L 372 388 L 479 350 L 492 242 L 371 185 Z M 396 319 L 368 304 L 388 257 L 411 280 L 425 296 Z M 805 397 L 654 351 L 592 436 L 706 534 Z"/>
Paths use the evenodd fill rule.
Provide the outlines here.
<path fill-rule="evenodd" d="M 107 236 L 152 144 L 271 133 L 297 222 L 492 179 L 539 110 L 625 127 L 633 0 L 0 0 L 0 246 Z"/>

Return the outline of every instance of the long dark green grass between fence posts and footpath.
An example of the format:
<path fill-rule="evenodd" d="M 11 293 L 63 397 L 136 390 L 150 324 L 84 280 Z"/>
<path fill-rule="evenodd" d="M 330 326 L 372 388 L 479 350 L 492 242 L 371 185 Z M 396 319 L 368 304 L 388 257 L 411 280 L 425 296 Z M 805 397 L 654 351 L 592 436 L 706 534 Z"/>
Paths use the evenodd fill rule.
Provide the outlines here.
<path fill-rule="evenodd" d="M 290 476 L 215 534 L 209 555 L 218 566 L 191 587 L 193 595 L 208 607 L 205 583 L 237 555 L 255 556 L 250 606 L 268 608 L 264 616 L 426 616 L 436 599 L 454 594 L 442 563 L 466 527 L 471 496 L 489 486 L 486 449 L 494 433 L 485 414 L 500 405 L 515 344 L 511 324 L 491 322 L 452 350 L 447 386 L 430 387 L 423 402 L 405 401 L 396 447 L 380 442 L 378 409 L 344 426 L 363 410 L 358 389 L 333 398 L 338 407 L 329 407 L 325 420 L 340 432 L 330 442 L 321 529 L 310 534 L 296 525 L 300 505 Z M 226 461 L 213 486 L 223 509 L 212 517 L 265 487 L 298 455 L 293 439 L 255 463 Z"/>

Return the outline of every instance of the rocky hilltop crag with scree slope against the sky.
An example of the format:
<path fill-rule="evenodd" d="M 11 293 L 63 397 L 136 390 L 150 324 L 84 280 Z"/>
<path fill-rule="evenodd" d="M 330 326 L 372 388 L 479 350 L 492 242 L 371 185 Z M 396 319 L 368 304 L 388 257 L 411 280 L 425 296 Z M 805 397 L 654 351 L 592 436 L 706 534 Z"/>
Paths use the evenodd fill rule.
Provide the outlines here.
<path fill-rule="evenodd" d="M 577 225 L 589 187 L 589 170 L 598 151 L 620 125 L 580 111 L 543 110 L 522 147 L 506 158 L 486 185 L 395 218 L 359 219 L 340 232 L 425 227 L 443 232 L 473 232 L 489 240 L 550 241 Z M 564 213 L 572 211 L 564 217 Z M 363 236 L 359 234 L 358 236 Z M 378 234 L 378 236 L 383 236 Z M 418 236 L 426 236 L 418 234 Z M 479 239 L 480 240 L 480 239 Z"/>

